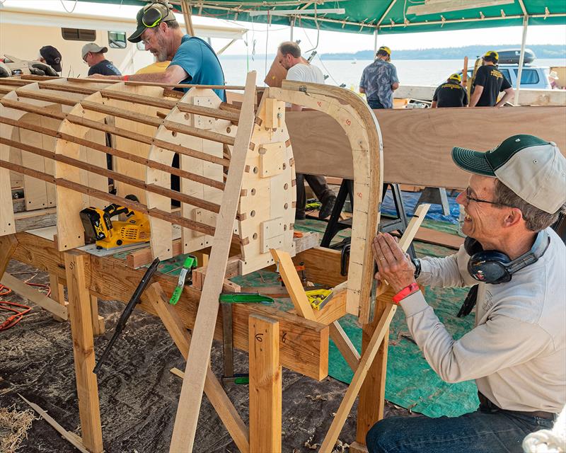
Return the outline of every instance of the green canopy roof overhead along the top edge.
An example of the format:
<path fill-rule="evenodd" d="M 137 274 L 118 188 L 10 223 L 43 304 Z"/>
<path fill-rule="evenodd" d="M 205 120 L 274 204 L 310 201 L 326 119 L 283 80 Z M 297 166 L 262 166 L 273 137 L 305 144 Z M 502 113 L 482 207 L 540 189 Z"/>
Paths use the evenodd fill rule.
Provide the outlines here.
<path fill-rule="evenodd" d="M 81 0 L 100 3 L 139 5 L 141 0 Z M 379 34 L 414 33 L 440 30 L 469 30 L 473 28 L 504 27 L 522 25 L 523 10 L 519 0 L 427 0 L 429 8 L 439 12 L 416 15 L 415 6 L 424 5 L 424 0 L 332 0 L 324 1 L 317 9 L 344 8 L 344 14 L 313 14 L 316 2 L 311 0 L 188 0 L 192 14 L 196 16 L 294 25 L 320 30 L 345 31 L 371 34 L 379 24 Z M 458 11 L 454 4 L 467 7 Z M 566 24 L 565 0 L 523 0 L 529 25 Z M 485 6 L 488 5 L 488 6 Z M 491 5 L 491 6 L 489 6 Z M 391 8 L 390 8 L 391 6 Z M 469 8 L 469 6 L 476 6 Z M 178 6 L 175 6 L 179 8 Z M 297 10 L 296 16 L 250 16 L 250 11 Z M 442 11 L 442 12 L 440 12 Z M 309 12 L 307 14 L 306 12 Z M 316 18 L 316 20 L 315 20 Z"/>

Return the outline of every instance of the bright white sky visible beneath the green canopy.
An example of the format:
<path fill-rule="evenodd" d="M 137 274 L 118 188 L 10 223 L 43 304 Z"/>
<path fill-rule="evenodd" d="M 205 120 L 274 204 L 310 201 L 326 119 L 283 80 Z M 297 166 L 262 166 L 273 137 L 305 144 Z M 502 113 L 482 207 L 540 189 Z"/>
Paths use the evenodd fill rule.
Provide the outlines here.
<path fill-rule="evenodd" d="M 55 11 L 74 9 L 76 13 L 96 14 L 97 16 L 121 17 L 136 16 L 137 6 L 120 6 L 89 4 L 74 0 L 0 0 L 4 6 L 18 8 L 36 8 Z M 247 38 L 240 40 L 224 52 L 224 55 L 246 55 L 252 53 L 275 53 L 280 42 L 290 39 L 290 28 L 284 25 L 265 25 L 249 22 L 224 21 L 215 18 L 193 16 L 193 23 L 203 25 L 238 26 L 248 28 Z M 183 16 L 178 15 L 178 21 L 183 23 Z M 454 30 L 429 33 L 407 33 L 405 35 L 383 35 L 378 37 L 378 46 L 387 45 L 391 50 L 423 49 L 430 47 L 458 47 L 464 45 L 517 45 L 521 42 L 522 27 L 485 28 L 483 30 Z M 246 37 L 246 35 L 245 35 Z M 305 28 L 294 29 L 294 40 L 301 40 L 301 47 L 315 47 L 319 54 L 335 52 L 357 52 L 372 50 L 374 36 L 357 33 L 338 33 Z M 214 40 L 213 40 L 214 41 Z M 246 48 L 246 42 L 248 48 Z M 527 32 L 526 45 L 555 44 L 566 46 L 566 25 L 537 25 L 530 26 Z M 219 47 L 214 44 L 214 47 Z"/>

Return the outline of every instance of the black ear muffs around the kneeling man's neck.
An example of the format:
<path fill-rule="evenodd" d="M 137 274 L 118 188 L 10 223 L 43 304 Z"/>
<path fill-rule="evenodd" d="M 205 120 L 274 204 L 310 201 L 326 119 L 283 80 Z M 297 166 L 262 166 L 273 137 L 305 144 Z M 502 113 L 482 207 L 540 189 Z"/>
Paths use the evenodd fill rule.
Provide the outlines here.
<path fill-rule="evenodd" d="M 539 231 L 531 250 L 511 260 L 505 253 L 488 250 L 484 251 L 481 244 L 472 238 L 466 238 L 464 248 L 470 255 L 468 273 L 478 282 L 497 285 L 509 282 L 517 271 L 536 263 L 548 248 L 550 236 L 544 230 Z"/>

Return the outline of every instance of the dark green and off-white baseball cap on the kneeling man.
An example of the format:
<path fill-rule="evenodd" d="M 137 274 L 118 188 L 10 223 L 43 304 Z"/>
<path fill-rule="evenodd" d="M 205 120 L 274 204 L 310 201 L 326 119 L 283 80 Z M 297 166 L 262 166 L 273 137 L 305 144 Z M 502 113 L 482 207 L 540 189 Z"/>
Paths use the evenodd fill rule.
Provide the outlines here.
<path fill-rule="evenodd" d="M 454 147 L 463 170 L 499 179 L 523 200 L 554 214 L 566 202 L 566 158 L 554 142 L 513 135 L 489 151 Z"/>

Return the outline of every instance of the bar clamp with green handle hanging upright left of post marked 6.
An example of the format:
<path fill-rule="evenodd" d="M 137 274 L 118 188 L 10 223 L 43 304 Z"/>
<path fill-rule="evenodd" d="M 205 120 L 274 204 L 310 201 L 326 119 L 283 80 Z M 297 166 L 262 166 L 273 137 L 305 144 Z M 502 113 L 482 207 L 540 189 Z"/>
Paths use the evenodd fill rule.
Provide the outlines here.
<path fill-rule="evenodd" d="M 234 374 L 234 348 L 232 329 L 232 304 L 262 303 L 273 304 L 271 297 L 258 293 L 223 292 L 219 297 L 222 309 L 222 350 L 224 355 L 224 369 L 222 382 L 224 384 L 248 384 L 248 373 Z"/>

